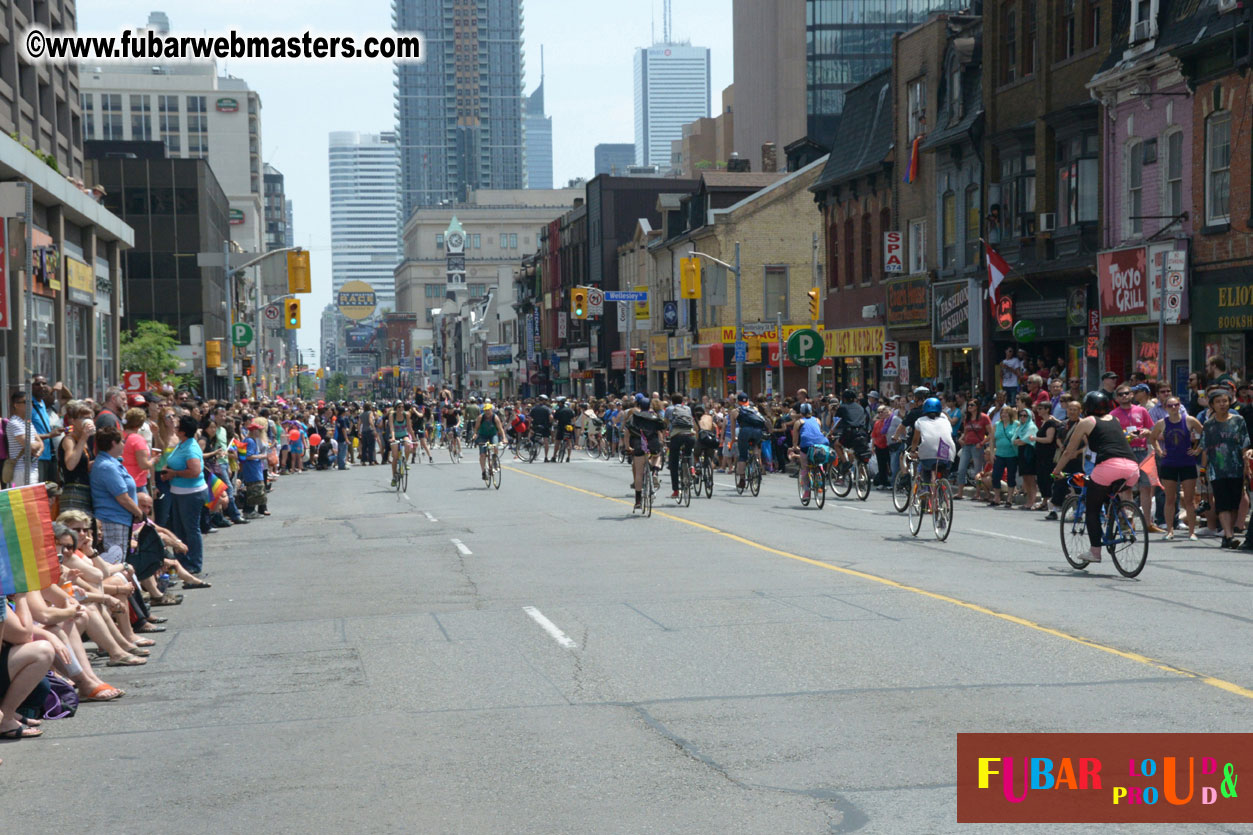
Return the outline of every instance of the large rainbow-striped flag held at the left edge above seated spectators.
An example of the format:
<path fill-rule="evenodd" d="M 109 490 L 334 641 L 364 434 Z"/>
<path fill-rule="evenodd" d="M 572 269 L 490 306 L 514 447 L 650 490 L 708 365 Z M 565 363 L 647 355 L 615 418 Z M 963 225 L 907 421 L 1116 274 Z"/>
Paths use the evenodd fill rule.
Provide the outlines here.
<path fill-rule="evenodd" d="M 0 592 L 39 592 L 60 575 L 48 490 L 43 484 L 0 490 Z"/>

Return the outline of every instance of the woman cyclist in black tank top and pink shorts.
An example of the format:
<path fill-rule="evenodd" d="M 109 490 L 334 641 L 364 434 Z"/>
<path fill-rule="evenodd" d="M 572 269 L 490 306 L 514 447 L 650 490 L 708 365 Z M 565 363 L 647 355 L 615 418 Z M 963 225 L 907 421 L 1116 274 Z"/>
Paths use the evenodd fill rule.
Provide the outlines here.
<path fill-rule="evenodd" d="M 1063 478 L 1061 468 L 1078 454 L 1083 441 L 1088 440 L 1088 451 L 1096 464 L 1088 478 L 1085 499 L 1088 544 L 1091 545 L 1091 555 L 1088 558 L 1090 563 L 1100 562 L 1101 543 L 1105 540 L 1105 534 L 1100 529 L 1100 514 L 1109 502 L 1110 485 L 1114 481 L 1123 481 L 1124 486 L 1133 485 L 1140 475 L 1140 468 L 1135 463 L 1135 455 L 1131 454 L 1131 445 L 1126 443 L 1123 425 L 1109 414 L 1113 407 L 1114 402 L 1105 391 L 1089 391 L 1084 395 L 1084 419 L 1070 433 L 1066 449 L 1058 458 L 1058 465 L 1053 468 L 1053 478 Z"/>

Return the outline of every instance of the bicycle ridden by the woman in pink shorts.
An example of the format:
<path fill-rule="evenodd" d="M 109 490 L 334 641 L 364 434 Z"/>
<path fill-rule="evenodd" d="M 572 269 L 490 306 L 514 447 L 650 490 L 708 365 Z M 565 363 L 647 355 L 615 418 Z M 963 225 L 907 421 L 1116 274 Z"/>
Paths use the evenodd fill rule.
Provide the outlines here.
<path fill-rule="evenodd" d="M 1071 475 L 1070 485 L 1078 493 L 1066 496 L 1061 505 L 1061 553 L 1071 568 L 1083 570 L 1091 564 L 1088 538 L 1088 479 Z M 1109 500 L 1101 508 L 1101 547 L 1109 552 L 1114 568 L 1123 577 L 1136 577 L 1149 558 L 1148 525 L 1140 505 L 1121 498 L 1124 479 L 1110 484 Z"/>

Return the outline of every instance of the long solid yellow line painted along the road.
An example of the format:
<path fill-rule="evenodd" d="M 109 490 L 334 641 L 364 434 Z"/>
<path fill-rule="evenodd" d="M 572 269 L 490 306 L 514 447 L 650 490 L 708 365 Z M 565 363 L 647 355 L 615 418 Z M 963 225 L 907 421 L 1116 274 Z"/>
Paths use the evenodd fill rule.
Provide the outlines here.
<path fill-rule="evenodd" d="M 605 499 L 608 502 L 616 502 L 618 504 L 630 505 L 630 502 L 625 499 L 618 499 L 611 495 L 605 495 L 604 493 L 596 493 L 595 490 L 585 490 L 583 488 L 576 488 L 554 479 L 545 478 L 543 475 L 535 475 L 534 473 L 528 473 L 526 470 L 519 470 L 514 466 L 506 466 L 506 470 L 517 473 L 519 475 L 525 475 L 531 479 L 538 479 L 548 484 L 554 484 L 559 488 L 565 488 L 566 490 L 574 490 L 575 493 L 583 493 L 584 495 L 590 495 L 596 499 Z M 967 603 L 966 601 L 960 601 L 956 597 L 950 597 L 949 594 L 940 594 L 938 592 L 930 592 L 925 588 L 918 588 L 917 586 L 910 586 L 907 583 L 898 583 L 897 580 L 888 579 L 886 577 L 878 577 L 877 574 L 868 574 L 866 572 L 860 572 L 856 568 L 845 568 L 843 565 L 833 565 L 832 563 L 826 563 L 821 559 L 812 559 L 809 557 L 802 557 L 801 554 L 793 554 L 792 552 L 782 550 L 779 548 L 772 548 L 769 545 L 763 545 L 759 542 L 753 542 L 741 537 L 739 534 L 733 534 L 729 530 L 722 530 L 720 528 L 714 528 L 713 525 L 707 525 L 702 522 L 694 522 L 692 519 L 685 519 L 683 517 L 675 517 L 673 514 L 665 513 L 663 510 L 653 510 L 653 515 L 662 517 L 663 519 L 669 519 L 672 522 L 678 522 L 679 524 L 689 525 L 697 528 L 698 530 L 704 530 L 732 542 L 737 542 L 742 545 L 748 545 L 749 548 L 756 548 L 757 550 L 763 550 L 767 554 L 774 554 L 776 557 L 784 557 L 787 559 L 793 559 L 798 563 L 807 563 L 817 568 L 824 568 L 831 572 L 837 572 L 847 577 L 856 577 L 857 579 L 868 580 L 871 583 L 878 583 L 880 586 L 887 586 L 890 588 L 900 589 L 902 592 L 911 592 L 913 594 L 920 594 L 922 597 L 928 597 L 932 601 L 940 601 L 942 603 L 950 603 L 952 606 L 960 606 L 964 609 L 971 612 L 979 612 L 980 614 L 986 614 L 1000 621 L 1006 621 L 1009 623 L 1016 623 L 1017 626 L 1026 627 L 1027 629 L 1034 629 L 1036 632 L 1042 632 L 1044 634 L 1050 634 L 1055 638 L 1063 638 L 1064 641 L 1070 641 L 1091 649 L 1099 649 L 1100 652 L 1106 652 L 1111 656 L 1118 656 L 1119 658 L 1126 658 L 1128 661 L 1134 661 L 1155 670 L 1160 670 L 1168 673 L 1174 673 L 1177 676 L 1185 676 L 1188 678 L 1195 678 L 1202 683 L 1209 685 L 1210 687 L 1217 687 L 1219 690 L 1225 690 L 1229 693 L 1235 693 L 1237 696 L 1243 696 L 1244 698 L 1253 698 L 1253 690 L 1248 687 L 1242 687 L 1240 685 L 1224 681 L 1222 678 L 1215 678 L 1213 676 L 1207 676 L 1192 670 L 1185 670 L 1183 667 L 1177 667 L 1174 664 L 1168 664 L 1164 661 L 1158 661 L 1157 658 L 1150 658 L 1149 656 L 1140 654 L 1139 652 L 1129 652 L 1126 649 L 1119 649 L 1116 647 L 1110 647 L 1104 643 L 1098 643 L 1089 638 L 1081 638 L 1079 636 L 1070 634 L 1069 632 L 1063 632 L 1061 629 L 1054 629 L 1053 627 L 1046 627 L 1034 621 L 1027 621 L 1026 618 L 1020 618 L 1016 614 L 1010 614 L 1007 612 L 997 612 L 996 609 L 990 609 L 986 606 L 979 606 L 977 603 Z"/>

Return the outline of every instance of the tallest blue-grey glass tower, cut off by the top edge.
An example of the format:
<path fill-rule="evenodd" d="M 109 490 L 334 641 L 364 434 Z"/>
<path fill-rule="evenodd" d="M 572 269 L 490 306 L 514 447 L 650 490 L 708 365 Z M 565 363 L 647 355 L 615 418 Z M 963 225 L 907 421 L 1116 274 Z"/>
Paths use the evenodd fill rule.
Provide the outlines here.
<path fill-rule="evenodd" d="M 397 31 L 422 33 L 421 64 L 396 65 L 401 207 L 521 188 L 521 0 L 392 0 Z"/>

